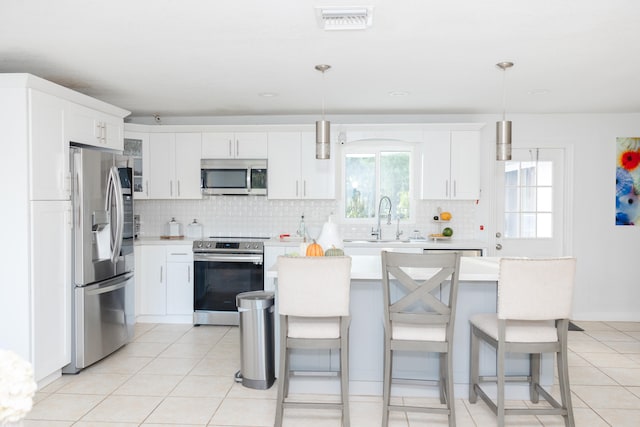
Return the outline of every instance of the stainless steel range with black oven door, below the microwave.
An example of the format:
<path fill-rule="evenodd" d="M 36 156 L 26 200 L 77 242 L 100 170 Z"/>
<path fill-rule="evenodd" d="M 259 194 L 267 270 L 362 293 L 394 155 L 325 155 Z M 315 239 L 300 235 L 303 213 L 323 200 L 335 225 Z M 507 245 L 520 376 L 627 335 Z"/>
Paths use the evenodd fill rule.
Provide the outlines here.
<path fill-rule="evenodd" d="M 194 241 L 194 325 L 237 325 L 236 295 L 264 289 L 263 260 L 259 238 Z"/>

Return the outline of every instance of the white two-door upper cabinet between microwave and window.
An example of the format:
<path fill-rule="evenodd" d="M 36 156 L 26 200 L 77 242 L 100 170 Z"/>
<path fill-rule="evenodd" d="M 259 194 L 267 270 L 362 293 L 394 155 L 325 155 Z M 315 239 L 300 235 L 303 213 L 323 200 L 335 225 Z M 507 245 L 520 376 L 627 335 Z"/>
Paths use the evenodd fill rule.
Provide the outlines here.
<path fill-rule="evenodd" d="M 269 199 L 335 199 L 335 151 L 316 160 L 312 132 L 269 132 Z"/>

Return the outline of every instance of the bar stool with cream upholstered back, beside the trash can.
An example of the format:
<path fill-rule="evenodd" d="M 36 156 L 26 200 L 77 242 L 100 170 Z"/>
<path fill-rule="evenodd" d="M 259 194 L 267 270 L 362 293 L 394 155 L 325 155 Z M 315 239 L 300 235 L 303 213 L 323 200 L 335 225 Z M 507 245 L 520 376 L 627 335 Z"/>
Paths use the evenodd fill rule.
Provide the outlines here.
<path fill-rule="evenodd" d="M 284 408 L 342 410 L 349 427 L 349 295 L 351 257 L 278 257 L 280 314 L 280 374 L 275 426 L 282 425 Z M 289 400 L 291 349 L 340 351 L 340 402 Z"/>

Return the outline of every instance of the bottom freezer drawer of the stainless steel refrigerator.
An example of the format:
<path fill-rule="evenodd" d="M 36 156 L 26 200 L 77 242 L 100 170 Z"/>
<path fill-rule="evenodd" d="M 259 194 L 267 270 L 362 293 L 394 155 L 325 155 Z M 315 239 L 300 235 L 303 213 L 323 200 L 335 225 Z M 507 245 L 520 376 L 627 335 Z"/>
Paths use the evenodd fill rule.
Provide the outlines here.
<path fill-rule="evenodd" d="M 76 368 L 113 353 L 133 337 L 133 275 L 75 289 Z"/>

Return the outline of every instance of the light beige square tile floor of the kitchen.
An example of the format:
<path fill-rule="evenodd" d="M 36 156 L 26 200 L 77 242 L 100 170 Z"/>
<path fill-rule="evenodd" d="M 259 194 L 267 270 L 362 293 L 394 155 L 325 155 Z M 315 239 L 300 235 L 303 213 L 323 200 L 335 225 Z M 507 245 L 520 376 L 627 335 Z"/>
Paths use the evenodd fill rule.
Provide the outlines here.
<path fill-rule="evenodd" d="M 640 425 L 640 323 L 577 324 L 585 332 L 569 333 L 576 425 Z M 138 324 L 133 342 L 38 391 L 24 425 L 272 426 L 276 387 L 260 391 L 235 383 L 239 363 L 237 327 Z M 378 426 L 381 414 L 380 397 L 351 396 L 352 426 Z M 456 416 L 463 427 L 496 424 L 484 403 L 471 405 L 466 396 L 456 400 Z M 446 424 L 444 416 L 393 413 L 389 425 Z M 564 425 L 555 416 L 508 417 L 507 424 Z M 287 427 L 339 425 L 337 411 L 285 411 Z"/>

